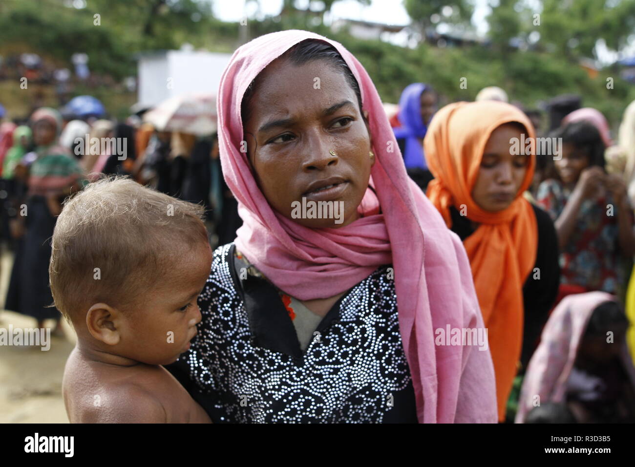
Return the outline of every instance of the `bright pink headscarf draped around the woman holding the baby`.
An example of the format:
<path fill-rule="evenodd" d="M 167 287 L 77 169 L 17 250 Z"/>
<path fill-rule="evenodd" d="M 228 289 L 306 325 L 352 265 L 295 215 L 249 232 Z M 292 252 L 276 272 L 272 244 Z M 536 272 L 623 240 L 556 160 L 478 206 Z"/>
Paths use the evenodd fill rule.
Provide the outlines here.
<path fill-rule="evenodd" d="M 363 108 L 370 113 L 377 161 L 371 178 L 384 212 L 366 212 L 365 217 L 339 229 L 310 229 L 272 210 L 253 177 L 246 153 L 240 151 L 244 139 L 241 100 L 246 88 L 272 60 L 305 39 L 319 39 L 338 50 L 359 83 Z M 399 329 L 418 420 L 495 423 L 496 390 L 489 350 L 434 344 L 437 328 L 483 327 L 465 249 L 406 175 L 375 85 L 358 60 L 342 44 L 318 34 L 302 30 L 267 34 L 234 52 L 218 96 L 223 173 L 244 221 L 237 232 L 237 248 L 276 287 L 300 300 L 345 292 L 378 266 L 392 262 Z M 389 152 L 391 146 L 394 152 Z"/>

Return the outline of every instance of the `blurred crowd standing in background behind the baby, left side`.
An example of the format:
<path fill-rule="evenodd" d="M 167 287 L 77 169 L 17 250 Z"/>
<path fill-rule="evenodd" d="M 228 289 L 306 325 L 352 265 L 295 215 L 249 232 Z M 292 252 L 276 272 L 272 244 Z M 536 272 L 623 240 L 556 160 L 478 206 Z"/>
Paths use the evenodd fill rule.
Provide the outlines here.
<path fill-rule="evenodd" d="M 65 120 L 49 107 L 18 123 L 0 125 L 0 238 L 15 255 L 4 308 L 36 318 L 39 327 L 53 319 L 53 334 L 63 335 L 61 315 L 50 307 L 50 238 L 64 198 L 93 180 L 128 175 L 201 204 L 211 244 L 234 240 L 241 220 L 224 184 L 215 135 L 160 132 L 138 116 Z"/>

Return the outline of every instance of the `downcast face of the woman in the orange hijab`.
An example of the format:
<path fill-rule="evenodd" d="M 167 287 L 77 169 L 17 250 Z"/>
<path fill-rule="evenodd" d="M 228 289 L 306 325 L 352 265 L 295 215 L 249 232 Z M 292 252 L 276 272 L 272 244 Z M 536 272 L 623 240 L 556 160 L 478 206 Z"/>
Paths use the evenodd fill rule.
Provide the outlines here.
<path fill-rule="evenodd" d="M 486 211 L 502 211 L 511 205 L 525 180 L 530 156 L 513 155 L 512 138 L 521 139 L 521 130 L 516 125 L 501 125 L 485 145 L 472 199 Z"/>

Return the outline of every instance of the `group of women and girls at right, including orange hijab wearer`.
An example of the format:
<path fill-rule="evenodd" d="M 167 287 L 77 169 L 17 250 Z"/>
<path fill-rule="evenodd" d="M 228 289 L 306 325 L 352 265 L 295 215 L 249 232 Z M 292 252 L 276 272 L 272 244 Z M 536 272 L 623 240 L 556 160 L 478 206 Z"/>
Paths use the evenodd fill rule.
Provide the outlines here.
<path fill-rule="evenodd" d="M 508 100 L 492 86 L 438 109 L 414 83 L 391 116 L 408 173 L 464 241 L 499 420 L 633 422 L 635 102 L 613 142 L 578 96 L 553 98 L 548 115 Z M 513 138 L 552 150 L 533 162 Z"/>

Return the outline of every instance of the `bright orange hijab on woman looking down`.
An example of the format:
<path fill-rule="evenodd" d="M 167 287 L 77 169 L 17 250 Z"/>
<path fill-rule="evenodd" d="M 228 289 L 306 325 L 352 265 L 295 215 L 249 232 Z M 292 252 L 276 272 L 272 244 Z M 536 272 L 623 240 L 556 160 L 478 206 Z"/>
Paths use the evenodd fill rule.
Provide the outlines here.
<path fill-rule="evenodd" d="M 481 209 L 472 199 L 483 151 L 500 125 L 519 122 L 531 142 L 525 180 L 511 205 L 499 212 Z M 451 227 L 450 206 L 479 227 L 464 245 L 472 267 L 491 358 L 496 374 L 498 419 L 518 369 L 523 342 L 523 284 L 533 270 L 538 246 L 535 213 L 523 192 L 530 186 L 535 167 L 535 133 L 530 120 L 504 102 L 455 102 L 439 110 L 425 135 L 425 158 L 434 175 L 427 196 Z"/>

